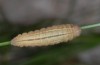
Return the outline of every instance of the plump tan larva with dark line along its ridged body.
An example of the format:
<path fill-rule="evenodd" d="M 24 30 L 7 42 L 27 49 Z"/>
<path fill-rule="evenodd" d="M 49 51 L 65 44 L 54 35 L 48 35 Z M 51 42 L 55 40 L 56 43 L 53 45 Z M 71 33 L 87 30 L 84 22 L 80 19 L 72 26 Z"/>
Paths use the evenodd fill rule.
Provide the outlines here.
<path fill-rule="evenodd" d="M 63 24 L 40 30 L 19 34 L 11 40 L 11 44 L 19 47 L 35 47 L 54 45 L 67 42 L 80 35 L 81 29 L 77 25 Z"/>

